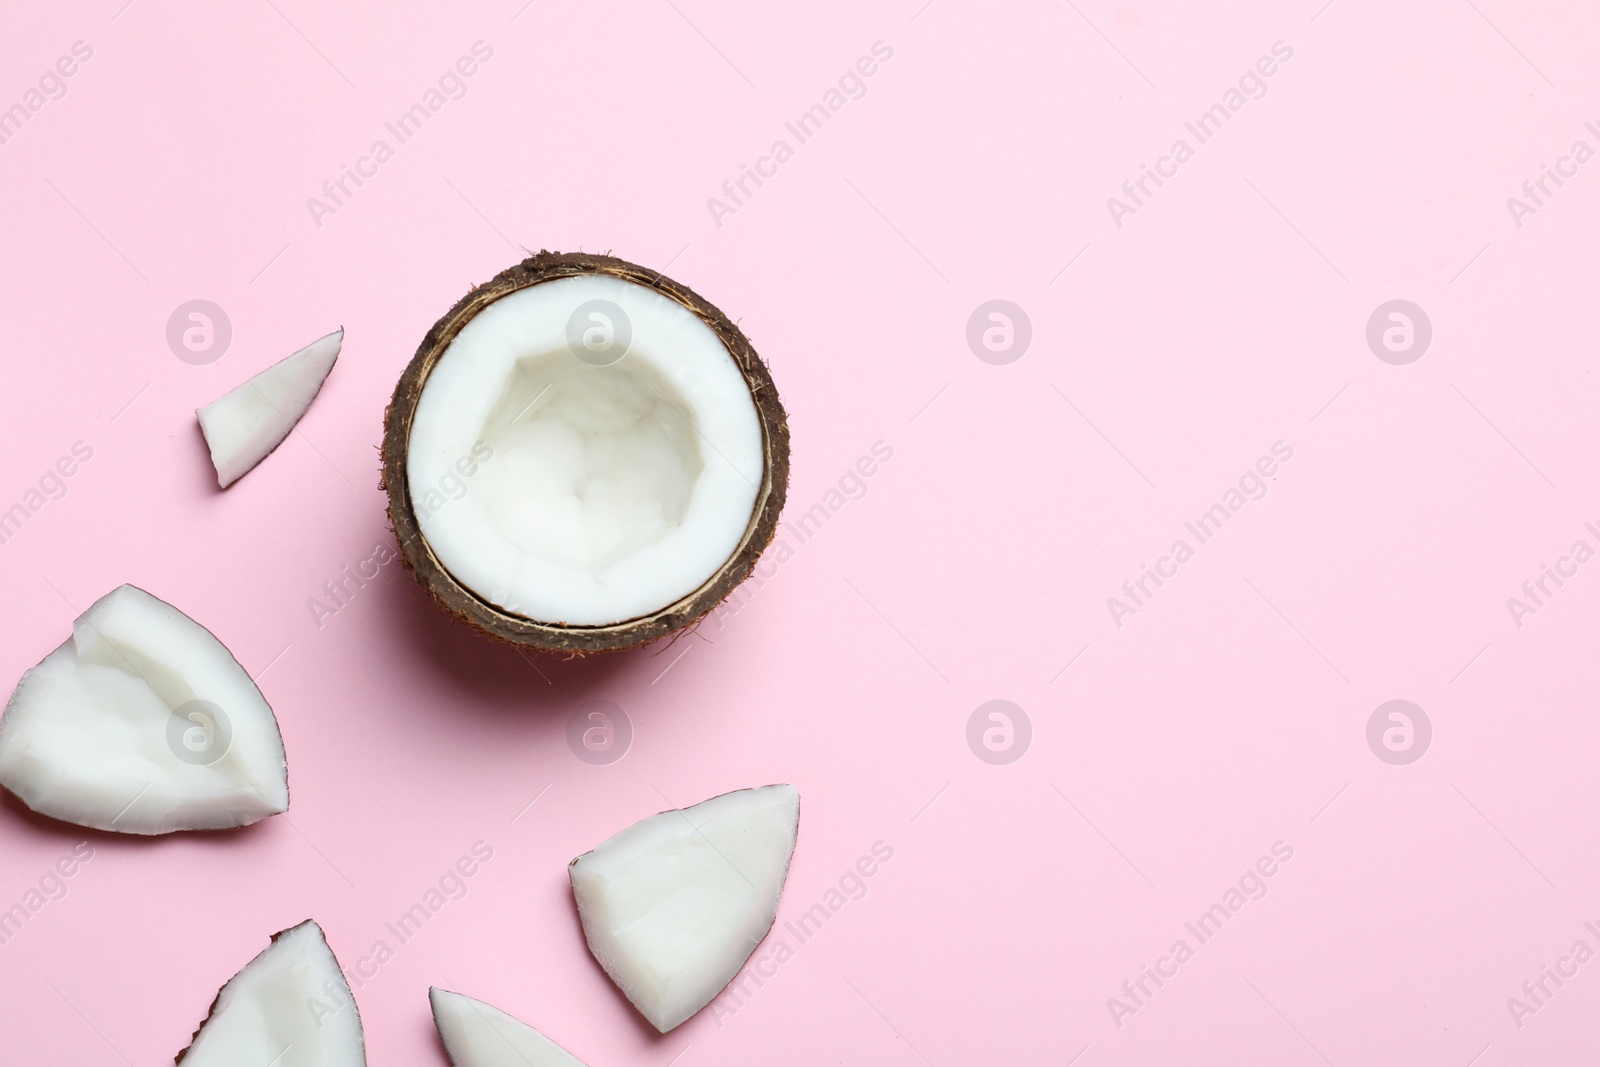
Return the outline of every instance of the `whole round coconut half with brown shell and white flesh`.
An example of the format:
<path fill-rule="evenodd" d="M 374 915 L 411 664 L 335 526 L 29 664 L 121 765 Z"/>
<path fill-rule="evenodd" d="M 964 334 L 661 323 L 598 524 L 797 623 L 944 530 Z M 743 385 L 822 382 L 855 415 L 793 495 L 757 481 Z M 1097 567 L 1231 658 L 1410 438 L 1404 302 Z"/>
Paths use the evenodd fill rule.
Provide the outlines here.
<path fill-rule="evenodd" d="M 565 653 L 690 625 L 771 541 L 789 426 L 722 312 L 610 256 L 539 253 L 462 298 L 384 434 L 406 566 L 451 614 Z"/>

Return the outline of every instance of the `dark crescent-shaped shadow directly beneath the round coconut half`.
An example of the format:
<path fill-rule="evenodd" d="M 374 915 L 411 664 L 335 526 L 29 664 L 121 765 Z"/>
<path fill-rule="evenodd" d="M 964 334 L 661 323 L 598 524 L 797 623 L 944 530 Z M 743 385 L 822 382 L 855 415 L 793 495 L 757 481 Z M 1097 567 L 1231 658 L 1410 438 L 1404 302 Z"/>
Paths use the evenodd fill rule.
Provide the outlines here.
<path fill-rule="evenodd" d="M 461 691 L 462 710 L 526 715 L 566 713 L 602 686 L 654 678 L 669 640 L 643 648 L 565 659 L 496 641 L 446 614 L 411 574 L 400 569 L 376 590 L 374 614 L 395 646 L 434 665 Z"/>

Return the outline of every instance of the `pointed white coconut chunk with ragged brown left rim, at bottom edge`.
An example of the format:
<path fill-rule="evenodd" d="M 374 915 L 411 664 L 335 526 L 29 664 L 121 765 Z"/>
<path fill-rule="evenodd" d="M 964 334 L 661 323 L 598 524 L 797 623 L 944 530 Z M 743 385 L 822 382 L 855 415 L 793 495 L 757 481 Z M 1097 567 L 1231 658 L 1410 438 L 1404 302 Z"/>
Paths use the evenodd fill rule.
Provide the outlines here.
<path fill-rule="evenodd" d="M 216 995 L 184 1067 L 365 1067 L 362 1014 L 339 961 L 306 920 L 272 934 L 266 952 Z"/>

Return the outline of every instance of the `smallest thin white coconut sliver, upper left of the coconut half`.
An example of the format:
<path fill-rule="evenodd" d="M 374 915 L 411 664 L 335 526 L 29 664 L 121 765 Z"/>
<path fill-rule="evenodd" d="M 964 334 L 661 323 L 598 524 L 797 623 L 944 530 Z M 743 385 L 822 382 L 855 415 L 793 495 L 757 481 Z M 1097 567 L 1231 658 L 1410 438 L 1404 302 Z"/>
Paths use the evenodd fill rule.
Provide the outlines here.
<path fill-rule="evenodd" d="M 195 411 L 218 485 L 234 485 L 283 443 L 322 390 L 342 344 L 341 326 Z"/>

